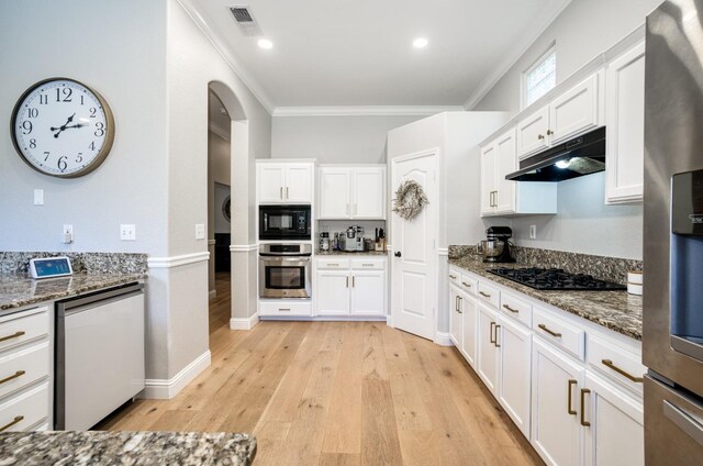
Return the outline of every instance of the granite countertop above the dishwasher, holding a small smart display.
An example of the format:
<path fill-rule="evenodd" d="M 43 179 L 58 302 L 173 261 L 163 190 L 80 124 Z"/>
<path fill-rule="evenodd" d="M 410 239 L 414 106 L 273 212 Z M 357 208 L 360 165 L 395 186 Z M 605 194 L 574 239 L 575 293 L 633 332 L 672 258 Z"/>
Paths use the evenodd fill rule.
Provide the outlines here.
<path fill-rule="evenodd" d="M 0 274 L 0 312 L 145 278 L 146 274 L 75 274 L 35 280 L 25 274 Z"/>

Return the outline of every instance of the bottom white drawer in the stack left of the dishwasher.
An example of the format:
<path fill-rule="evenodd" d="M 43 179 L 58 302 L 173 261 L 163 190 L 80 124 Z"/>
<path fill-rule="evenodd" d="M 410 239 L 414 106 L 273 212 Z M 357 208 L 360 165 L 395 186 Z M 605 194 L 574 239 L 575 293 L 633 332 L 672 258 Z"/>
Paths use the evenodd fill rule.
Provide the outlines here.
<path fill-rule="evenodd" d="M 48 415 L 48 384 L 0 404 L 0 432 L 23 431 Z"/>

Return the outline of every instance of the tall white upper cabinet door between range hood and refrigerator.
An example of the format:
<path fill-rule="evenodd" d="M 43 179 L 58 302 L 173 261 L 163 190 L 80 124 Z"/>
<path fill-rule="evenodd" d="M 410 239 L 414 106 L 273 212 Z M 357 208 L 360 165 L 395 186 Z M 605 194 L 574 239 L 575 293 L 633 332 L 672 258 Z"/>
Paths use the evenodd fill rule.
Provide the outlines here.
<path fill-rule="evenodd" d="M 639 201 L 645 154 L 645 44 L 613 60 L 606 70 L 607 203 Z"/>

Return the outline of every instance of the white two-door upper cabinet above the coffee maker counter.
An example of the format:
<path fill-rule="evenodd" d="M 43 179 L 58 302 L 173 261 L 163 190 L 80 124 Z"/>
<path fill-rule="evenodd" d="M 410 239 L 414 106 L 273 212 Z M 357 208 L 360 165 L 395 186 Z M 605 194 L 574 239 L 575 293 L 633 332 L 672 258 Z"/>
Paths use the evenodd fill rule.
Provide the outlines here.
<path fill-rule="evenodd" d="M 319 219 L 386 219 L 384 165 L 320 167 L 319 186 Z"/>

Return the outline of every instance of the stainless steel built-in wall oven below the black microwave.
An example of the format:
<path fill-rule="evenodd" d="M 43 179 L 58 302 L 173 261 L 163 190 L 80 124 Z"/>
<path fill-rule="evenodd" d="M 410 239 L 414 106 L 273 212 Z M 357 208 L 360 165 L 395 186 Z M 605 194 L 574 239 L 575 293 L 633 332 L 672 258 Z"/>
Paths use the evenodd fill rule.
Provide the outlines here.
<path fill-rule="evenodd" d="M 259 246 L 259 298 L 312 297 L 312 244 Z"/>

